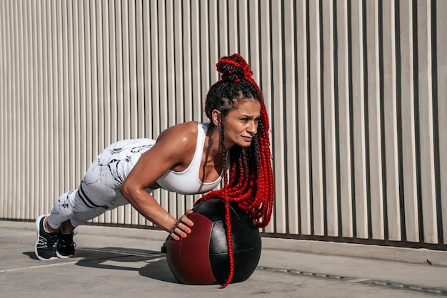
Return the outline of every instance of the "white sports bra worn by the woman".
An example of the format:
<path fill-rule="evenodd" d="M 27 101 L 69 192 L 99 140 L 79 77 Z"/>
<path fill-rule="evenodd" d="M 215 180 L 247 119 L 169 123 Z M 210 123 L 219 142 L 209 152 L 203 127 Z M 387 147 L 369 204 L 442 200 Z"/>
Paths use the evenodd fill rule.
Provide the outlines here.
<path fill-rule="evenodd" d="M 182 195 L 195 195 L 214 190 L 214 188 L 221 183 L 222 175 L 216 181 L 211 183 L 203 183 L 199 178 L 200 164 L 204 152 L 208 125 L 208 123 L 198 123 L 197 125 L 196 152 L 194 153 L 193 160 L 191 160 L 188 168 L 181 172 L 168 170 L 161 176 L 161 178 L 159 178 L 159 180 L 157 180 L 157 184 L 160 185 L 161 188 Z"/>

